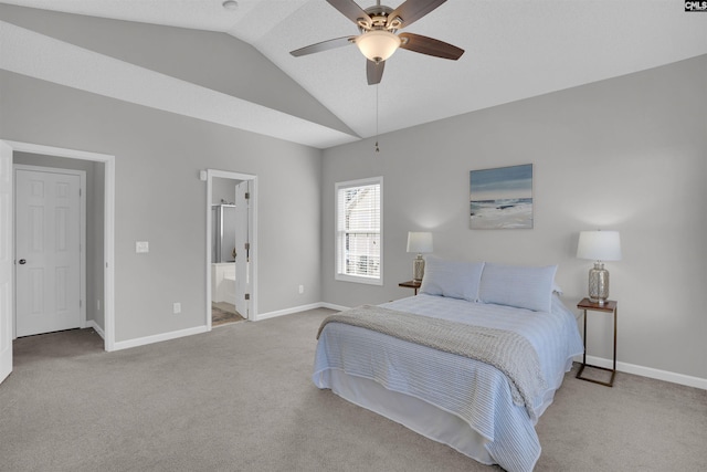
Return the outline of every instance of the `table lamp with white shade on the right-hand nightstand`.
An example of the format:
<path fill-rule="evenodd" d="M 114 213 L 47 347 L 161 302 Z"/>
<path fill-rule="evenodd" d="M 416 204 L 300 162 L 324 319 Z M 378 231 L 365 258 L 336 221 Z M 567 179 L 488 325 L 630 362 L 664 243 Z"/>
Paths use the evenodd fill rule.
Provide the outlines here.
<path fill-rule="evenodd" d="M 594 261 L 589 270 L 589 300 L 603 305 L 609 298 L 609 271 L 603 261 L 621 261 L 619 231 L 581 231 L 577 256 Z"/>

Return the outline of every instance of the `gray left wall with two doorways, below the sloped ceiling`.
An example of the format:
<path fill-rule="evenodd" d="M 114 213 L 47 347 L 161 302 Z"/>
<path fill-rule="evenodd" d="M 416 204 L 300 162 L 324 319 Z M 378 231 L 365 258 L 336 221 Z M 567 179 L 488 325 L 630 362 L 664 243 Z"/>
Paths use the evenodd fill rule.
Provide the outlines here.
<path fill-rule="evenodd" d="M 0 108 L 4 139 L 116 156 L 116 342 L 205 323 L 200 169 L 258 178 L 258 312 L 321 300 L 318 149 L 4 71 Z M 136 254 L 136 241 L 150 252 Z"/>

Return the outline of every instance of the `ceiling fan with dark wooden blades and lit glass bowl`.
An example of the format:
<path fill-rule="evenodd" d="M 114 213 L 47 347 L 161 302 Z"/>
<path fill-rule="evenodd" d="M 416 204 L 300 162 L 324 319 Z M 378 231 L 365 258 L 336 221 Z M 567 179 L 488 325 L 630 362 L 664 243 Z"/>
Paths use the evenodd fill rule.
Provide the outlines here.
<path fill-rule="evenodd" d="M 380 83 L 383 77 L 386 60 L 399 48 L 456 61 L 464 50 L 433 38 L 413 33 L 398 33 L 398 30 L 411 25 L 446 0 L 407 0 L 397 9 L 380 4 L 361 9 L 354 0 L 327 0 L 341 14 L 358 25 L 361 34 L 337 38 L 312 44 L 291 54 L 295 57 L 316 52 L 328 51 L 349 44 L 356 44 L 366 56 L 366 76 L 369 85 Z"/>

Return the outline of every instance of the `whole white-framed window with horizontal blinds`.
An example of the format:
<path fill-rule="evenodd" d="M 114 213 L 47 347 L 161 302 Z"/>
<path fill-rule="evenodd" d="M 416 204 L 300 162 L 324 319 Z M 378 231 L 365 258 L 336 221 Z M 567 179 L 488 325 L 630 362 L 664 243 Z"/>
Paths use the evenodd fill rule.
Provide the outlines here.
<path fill-rule="evenodd" d="M 336 279 L 383 284 L 383 178 L 336 185 Z"/>

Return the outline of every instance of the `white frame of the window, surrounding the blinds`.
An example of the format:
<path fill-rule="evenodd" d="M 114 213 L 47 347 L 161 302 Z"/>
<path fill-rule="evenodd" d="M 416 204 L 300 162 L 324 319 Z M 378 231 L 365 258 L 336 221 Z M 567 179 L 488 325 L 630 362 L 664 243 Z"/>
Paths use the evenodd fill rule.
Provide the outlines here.
<path fill-rule="evenodd" d="M 345 258 L 345 249 L 341 245 L 346 241 L 347 231 L 339 231 L 339 191 L 342 189 L 354 188 L 354 187 L 367 187 L 367 186 L 379 186 L 379 197 L 380 197 L 380 207 L 378 209 L 378 216 L 380 220 L 380 225 L 378 228 L 378 256 L 379 256 L 379 269 L 378 276 L 366 276 L 366 275 L 356 275 L 346 273 L 342 265 Z M 369 285 L 383 285 L 383 177 L 370 177 L 366 179 L 358 180 L 348 180 L 336 182 L 334 185 L 334 277 L 337 281 L 344 282 L 355 282 L 362 283 Z"/>

